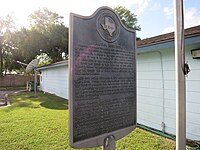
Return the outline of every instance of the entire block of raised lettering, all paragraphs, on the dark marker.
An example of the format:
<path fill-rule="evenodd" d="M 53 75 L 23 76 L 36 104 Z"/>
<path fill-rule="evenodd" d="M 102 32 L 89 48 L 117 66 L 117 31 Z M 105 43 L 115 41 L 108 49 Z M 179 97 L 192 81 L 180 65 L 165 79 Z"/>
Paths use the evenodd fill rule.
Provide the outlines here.
<path fill-rule="evenodd" d="M 74 56 L 74 141 L 136 124 L 134 51 L 77 44 Z"/>

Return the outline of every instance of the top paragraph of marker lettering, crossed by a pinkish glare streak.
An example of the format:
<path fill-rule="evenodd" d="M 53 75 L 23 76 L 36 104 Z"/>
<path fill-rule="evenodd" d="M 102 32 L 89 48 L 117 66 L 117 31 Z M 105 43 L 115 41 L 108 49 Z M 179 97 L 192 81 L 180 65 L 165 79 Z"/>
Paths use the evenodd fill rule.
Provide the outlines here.
<path fill-rule="evenodd" d="M 134 53 L 116 45 L 82 45 L 75 48 L 75 74 L 134 73 Z"/>

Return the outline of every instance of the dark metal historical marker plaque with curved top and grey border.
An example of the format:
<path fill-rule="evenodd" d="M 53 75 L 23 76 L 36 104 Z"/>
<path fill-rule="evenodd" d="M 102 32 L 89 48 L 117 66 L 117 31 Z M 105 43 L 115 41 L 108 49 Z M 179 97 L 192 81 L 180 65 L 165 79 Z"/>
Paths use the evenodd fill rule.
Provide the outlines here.
<path fill-rule="evenodd" d="M 135 32 L 116 13 L 70 15 L 70 145 L 103 145 L 136 127 Z"/>

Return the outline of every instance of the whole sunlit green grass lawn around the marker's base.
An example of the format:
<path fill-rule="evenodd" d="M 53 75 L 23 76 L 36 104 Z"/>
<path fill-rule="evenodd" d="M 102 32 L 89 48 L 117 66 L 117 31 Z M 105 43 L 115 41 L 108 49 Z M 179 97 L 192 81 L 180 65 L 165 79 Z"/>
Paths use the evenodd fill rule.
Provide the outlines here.
<path fill-rule="evenodd" d="M 68 104 L 54 95 L 22 92 L 0 108 L 0 149 L 72 149 L 68 144 Z M 101 150 L 102 148 L 93 148 Z M 137 128 L 117 142 L 117 150 L 171 150 L 175 142 Z"/>

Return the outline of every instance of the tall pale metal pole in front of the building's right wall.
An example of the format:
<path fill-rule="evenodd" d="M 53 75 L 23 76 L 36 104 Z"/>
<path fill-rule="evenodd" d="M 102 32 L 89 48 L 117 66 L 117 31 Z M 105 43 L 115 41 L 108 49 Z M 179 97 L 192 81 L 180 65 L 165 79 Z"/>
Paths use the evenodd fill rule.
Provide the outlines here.
<path fill-rule="evenodd" d="M 186 148 L 186 90 L 183 0 L 174 0 L 176 68 L 176 150 Z"/>

